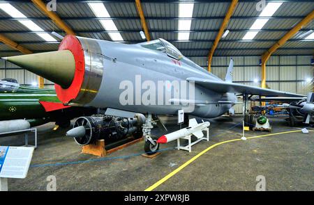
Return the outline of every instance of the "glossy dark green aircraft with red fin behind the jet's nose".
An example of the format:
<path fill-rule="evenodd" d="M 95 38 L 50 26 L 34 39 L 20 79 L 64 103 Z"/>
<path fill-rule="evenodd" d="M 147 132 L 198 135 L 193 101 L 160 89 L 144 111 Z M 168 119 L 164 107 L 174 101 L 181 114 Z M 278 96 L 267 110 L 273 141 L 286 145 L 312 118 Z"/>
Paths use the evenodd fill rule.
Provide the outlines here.
<path fill-rule="evenodd" d="M 24 119 L 31 126 L 56 122 L 68 127 L 73 118 L 95 113 L 95 108 L 64 106 L 55 90 L 20 85 L 15 79 L 0 81 L 0 121 Z"/>

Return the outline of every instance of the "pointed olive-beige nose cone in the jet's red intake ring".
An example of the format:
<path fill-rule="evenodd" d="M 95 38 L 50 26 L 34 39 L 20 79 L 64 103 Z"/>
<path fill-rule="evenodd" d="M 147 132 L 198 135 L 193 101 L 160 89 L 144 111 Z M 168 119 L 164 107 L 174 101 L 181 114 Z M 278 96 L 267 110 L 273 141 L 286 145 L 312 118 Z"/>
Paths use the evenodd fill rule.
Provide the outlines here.
<path fill-rule="evenodd" d="M 3 59 L 57 83 L 62 88 L 68 88 L 74 78 L 75 59 L 68 50 L 11 56 Z"/>

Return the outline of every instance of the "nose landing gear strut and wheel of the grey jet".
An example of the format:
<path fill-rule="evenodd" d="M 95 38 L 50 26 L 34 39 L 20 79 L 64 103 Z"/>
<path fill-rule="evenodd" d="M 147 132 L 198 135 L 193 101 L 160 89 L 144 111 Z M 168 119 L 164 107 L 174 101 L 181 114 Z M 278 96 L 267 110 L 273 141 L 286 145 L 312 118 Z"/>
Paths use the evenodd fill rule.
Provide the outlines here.
<path fill-rule="evenodd" d="M 153 117 L 151 114 L 147 115 L 146 122 L 143 124 L 143 136 L 145 140 L 144 151 L 148 154 L 155 154 L 159 149 L 159 143 L 157 143 L 157 138 L 151 136 L 151 129 L 154 128 L 156 122 L 152 121 Z"/>

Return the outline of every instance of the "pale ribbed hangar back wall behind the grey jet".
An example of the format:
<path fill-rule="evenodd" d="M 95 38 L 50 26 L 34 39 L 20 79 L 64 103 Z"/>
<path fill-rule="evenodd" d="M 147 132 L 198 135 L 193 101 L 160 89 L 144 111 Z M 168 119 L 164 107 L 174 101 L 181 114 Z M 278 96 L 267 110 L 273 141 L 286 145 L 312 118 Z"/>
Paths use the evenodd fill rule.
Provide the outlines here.
<path fill-rule="evenodd" d="M 213 58 L 211 72 L 220 79 L 225 78 L 230 58 L 234 59 L 234 82 L 260 86 L 260 56 L 216 56 Z M 267 63 L 267 87 L 286 92 L 306 95 L 313 89 L 313 56 L 271 56 Z M 207 69 L 206 57 L 191 57 L 198 65 Z M 20 84 L 35 85 L 38 77 L 21 67 L 0 60 L 0 79 L 17 79 Z M 308 80 L 311 80 L 310 82 Z M 53 88 L 53 83 L 45 79 L 45 88 Z M 241 105 L 236 106 L 241 113 Z"/>

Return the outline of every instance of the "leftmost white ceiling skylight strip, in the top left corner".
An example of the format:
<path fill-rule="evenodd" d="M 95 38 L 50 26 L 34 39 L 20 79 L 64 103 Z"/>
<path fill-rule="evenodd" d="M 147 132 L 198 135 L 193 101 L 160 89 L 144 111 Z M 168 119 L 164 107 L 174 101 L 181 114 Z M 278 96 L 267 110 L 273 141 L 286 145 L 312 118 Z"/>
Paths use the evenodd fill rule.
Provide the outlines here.
<path fill-rule="evenodd" d="M 14 6 L 12 6 L 10 3 L 0 3 L 0 9 L 3 10 L 5 13 L 10 15 L 13 18 L 26 18 L 27 17 L 20 12 L 20 10 L 17 10 Z M 21 24 L 23 24 L 25 27 L 29 28 L 31 31 L 40 31 L 45 32 L 43 28 L 40 28 L 37 24 L 35 24 L 31 20 L 18 20 Z M 45 41 L 57 41 L 55 38 L 52 37 L 52 35 L 48 33 L 36 33 L 40 38 L 43 38 Z"/>

